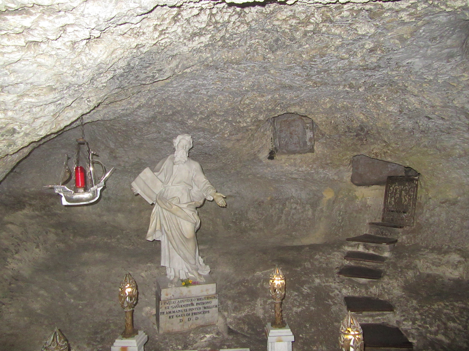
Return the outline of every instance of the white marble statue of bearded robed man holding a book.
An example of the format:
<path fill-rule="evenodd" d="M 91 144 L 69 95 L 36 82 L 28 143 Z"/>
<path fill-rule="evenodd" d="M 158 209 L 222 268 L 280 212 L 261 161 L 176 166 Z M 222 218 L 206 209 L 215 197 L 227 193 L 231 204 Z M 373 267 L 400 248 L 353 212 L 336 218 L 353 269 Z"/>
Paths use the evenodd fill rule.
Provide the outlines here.
<path fill-rule="evenodd" d="M 199 256 L 196 231 L 200 227 L 197 207 L 205 199 L 226 207 L 224 195 L 215 190 L 197 161 L 189 159 L 192 137 L 178 135 L 173 140 L 175 152 L 161 160 L 151 172 L 148 168 L 132 183 L 132 190 L 155 203 L 146 239 L 161 241 L 161 265 L 166 267 L 174 287 L 179 279 L 194 276 L 204 281 L 210 272 Z M 156 176 L 156 177 L 155 177 Z"/>

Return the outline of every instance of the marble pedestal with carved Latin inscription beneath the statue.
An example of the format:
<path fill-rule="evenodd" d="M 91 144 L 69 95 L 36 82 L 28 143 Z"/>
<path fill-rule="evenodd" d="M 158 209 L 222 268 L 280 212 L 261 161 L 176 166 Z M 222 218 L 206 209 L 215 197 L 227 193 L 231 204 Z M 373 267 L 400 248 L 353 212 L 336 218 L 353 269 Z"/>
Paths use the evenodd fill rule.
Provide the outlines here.
<path fill-rule="evenodd" d="M 197 285 L 183 286 L 179 281 L 168 287 L 169 279 L 157 278 L 156 323 L 160 333 L 182 331 L 218 322 L 217 285 L 210 277 Z"/>

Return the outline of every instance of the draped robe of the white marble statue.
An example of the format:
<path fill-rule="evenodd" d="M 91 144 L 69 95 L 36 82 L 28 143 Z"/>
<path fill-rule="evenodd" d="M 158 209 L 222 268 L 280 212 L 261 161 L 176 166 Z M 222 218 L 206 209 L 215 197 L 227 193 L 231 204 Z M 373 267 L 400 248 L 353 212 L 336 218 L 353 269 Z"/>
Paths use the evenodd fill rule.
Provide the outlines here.
<path fill-rule="evenodd" d="M 161 265 L 166 267 L 166 275 L 174 278 L 174 270 L 179 270 L 182 279 L 187 273 L 197 271 L 208 274 L 210 267 L 199 256 L 196 231 L 200 227 L 197 207 L 215 188 L 210 184 L 196 161 L 188 159 L 175 165 L 174 155 L 161 160 L 153 172 L 162 182 L 162 189 L 156 197 L 151 211 L 147 240 L 161 241 Z"/>

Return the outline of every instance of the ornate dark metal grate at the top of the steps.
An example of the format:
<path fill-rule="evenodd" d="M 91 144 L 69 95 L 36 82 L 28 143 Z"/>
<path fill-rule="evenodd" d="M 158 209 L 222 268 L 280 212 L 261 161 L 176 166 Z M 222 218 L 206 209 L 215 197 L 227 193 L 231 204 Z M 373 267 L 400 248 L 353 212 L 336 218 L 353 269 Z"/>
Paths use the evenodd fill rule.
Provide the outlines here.
<path fill-rule="evenodd" d="M 381 220 L 404 227 L 414 224 L 418 176 L 389 176 Z"/>

